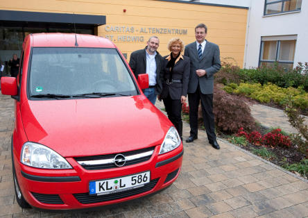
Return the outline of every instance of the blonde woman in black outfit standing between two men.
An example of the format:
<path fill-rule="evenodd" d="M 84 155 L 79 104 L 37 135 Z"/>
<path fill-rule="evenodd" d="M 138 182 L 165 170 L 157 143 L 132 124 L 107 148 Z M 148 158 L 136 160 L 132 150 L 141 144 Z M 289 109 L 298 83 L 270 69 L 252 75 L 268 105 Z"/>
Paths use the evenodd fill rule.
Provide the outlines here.
<path fill-rule="evenodd" d="M 185 103 L 190 72 L 190 61 L 187 56 L 182 56 L 184 43 L 179 38 L 173 38 L 168 43 L 171 51 L 169 56 L 163 58 L 163 69 L 160 74 L 162 79 L 162 93 L 160 99 L 168 118 L 176 126 L 182 139 L 182 103 Z"/>

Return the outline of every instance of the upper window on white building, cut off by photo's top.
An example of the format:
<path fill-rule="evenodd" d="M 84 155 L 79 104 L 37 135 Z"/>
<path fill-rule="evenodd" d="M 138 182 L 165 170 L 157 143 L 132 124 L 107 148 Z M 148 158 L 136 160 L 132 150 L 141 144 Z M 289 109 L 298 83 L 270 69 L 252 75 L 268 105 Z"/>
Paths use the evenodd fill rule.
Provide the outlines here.
<path fill-rule="evenodd" d="M 265 0 L 264 15 L 300 10 L 302 0 Z"/>

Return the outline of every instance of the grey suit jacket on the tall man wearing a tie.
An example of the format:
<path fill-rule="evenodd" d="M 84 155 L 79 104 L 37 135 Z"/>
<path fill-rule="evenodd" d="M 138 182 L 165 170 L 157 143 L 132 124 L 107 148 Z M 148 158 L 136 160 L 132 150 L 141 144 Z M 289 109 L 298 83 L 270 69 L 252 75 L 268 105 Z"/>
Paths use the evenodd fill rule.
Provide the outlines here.
<path fill-rule="evenodd" d="M 213 94 L 214 90 L 214 74 L 221 69 L 221 59 L 219 54 L 219 46 L 212 42 L 205 44 L 201 59 L 198 56 L 196 41 L 187 44 L 185 47 L 185 56 L 190 58 L 190 75 L 188 92 L 194 93 L 198 84 L 202 94 Z M 205 76 L 198 76 L 196 69 L 205 69 Z"/>

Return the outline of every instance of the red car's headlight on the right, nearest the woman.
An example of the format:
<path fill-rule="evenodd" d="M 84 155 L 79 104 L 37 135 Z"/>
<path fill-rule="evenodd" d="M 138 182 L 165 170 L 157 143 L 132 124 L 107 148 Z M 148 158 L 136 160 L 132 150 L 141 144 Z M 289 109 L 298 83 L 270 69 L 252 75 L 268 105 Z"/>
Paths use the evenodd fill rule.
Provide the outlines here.
<path fill-rule="evenodd" d="M 162 146 L 160 146 L 160 154 L 172 151 L 176 149 L 181 144 L 180 135 L 178 135 L 178 131 L 174 126 L 169 128 L 169 131 L 166 133 L 164 137 L 164 142 L 162 142 Z"/>

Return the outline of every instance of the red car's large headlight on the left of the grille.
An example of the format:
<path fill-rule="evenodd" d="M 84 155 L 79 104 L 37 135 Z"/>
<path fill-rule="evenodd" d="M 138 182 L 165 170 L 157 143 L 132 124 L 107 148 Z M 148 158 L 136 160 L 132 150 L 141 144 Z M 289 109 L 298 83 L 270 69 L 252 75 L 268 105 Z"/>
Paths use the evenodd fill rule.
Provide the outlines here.
<path fill-rule="evenodd" d="M 71 169 L 71 165 L 58 153 L 42 144 L 26 142 L 22 146 L 21 162 L 24 165 L 44 169 Z"/>

